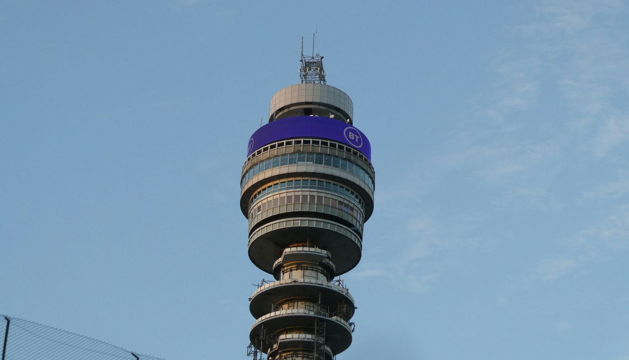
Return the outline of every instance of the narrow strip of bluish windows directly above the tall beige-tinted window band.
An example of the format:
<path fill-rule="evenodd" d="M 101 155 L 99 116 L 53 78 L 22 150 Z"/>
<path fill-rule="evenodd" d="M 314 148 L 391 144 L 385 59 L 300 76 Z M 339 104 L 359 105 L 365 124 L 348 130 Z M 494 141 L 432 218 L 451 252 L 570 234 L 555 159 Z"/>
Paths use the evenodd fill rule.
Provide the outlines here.
<path fill-rule="evenodd" d="M 332 183 L 330 181 L 301 177 L 282 179 L 282 181 L 276 181 L 275 183 L 269 184 L 265 188 L 258 190 L 257 193 L 251 196 L 251 200 L 249 201 L 249 208 L 251 208 L 252 205 L 255 205 L 256 201 L 264 198 L 265 196 L 277 193 L 278 191 L 286 191 L 292 189 L 324 190 L 331 193 L 341 194 L 345 198 L 353 201 L 353 203 L 359 205 L 360 209 L 364 209 L 362 198 L 360 198 L 360 196 L 357 193 L 354 193 L 350 188 L 347 188 L 347 186 Z"/>

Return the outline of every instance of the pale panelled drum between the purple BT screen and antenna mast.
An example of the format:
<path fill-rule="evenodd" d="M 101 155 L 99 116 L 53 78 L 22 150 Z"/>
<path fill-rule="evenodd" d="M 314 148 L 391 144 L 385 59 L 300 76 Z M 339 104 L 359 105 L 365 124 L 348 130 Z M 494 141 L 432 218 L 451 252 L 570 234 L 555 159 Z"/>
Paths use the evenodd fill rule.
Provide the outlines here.
<path fill-rule="evenodd" d="M 284 87 L 271 98 L 269 122 L 310 115 L 335 118 L 352 124 L 352 99 L 336 87 L 311 83 Z"/>

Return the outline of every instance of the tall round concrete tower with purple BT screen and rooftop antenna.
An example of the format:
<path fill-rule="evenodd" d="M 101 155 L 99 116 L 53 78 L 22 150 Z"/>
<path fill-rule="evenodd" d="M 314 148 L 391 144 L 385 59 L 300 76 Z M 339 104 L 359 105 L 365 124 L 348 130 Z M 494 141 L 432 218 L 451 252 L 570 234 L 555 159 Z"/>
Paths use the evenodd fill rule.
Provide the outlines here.
<path fill-rule="evenodd" d="M 249 299 L 255 360 L 331 360 L 350 346 L 354 300 L 333 279 L 360 261 L 374 210 L 371 148 L 352 100 L 326 85 L 323 57 L 304 57 L 303 46 L 300 77 L 271 99 L 240 180 L 249 258 L 276 280 Z"/>

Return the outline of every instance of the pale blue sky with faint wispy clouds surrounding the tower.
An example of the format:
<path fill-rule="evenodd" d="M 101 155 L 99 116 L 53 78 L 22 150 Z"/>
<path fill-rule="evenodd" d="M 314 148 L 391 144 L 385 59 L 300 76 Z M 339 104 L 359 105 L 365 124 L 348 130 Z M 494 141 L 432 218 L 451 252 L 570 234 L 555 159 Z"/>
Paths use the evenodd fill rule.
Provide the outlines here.
<path fill-rule="evenodd" d="M 0 312 L 245 357 L 247 140 L 299 81 L 372 143 L 339 359 L 629 359 L 624 1 L 5 1 Z"/>

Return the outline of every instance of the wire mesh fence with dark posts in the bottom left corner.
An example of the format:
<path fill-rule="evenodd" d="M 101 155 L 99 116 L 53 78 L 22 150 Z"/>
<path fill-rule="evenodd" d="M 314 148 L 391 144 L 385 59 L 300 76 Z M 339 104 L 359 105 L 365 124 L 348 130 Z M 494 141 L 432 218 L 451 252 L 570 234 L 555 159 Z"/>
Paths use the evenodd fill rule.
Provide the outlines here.
<path fill-rule="evenodd" d="M 84 335 L 0 314 L 1 360 L 163 360 Z"/>

